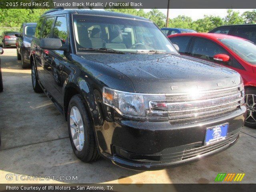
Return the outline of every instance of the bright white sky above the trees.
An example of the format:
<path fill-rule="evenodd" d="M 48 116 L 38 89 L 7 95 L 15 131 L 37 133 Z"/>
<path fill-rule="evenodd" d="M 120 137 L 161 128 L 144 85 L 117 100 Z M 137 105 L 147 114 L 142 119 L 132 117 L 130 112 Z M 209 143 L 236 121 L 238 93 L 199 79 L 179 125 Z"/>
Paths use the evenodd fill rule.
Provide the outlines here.
<path fill-rule="evenodd" d="M 165 15 L 167 13 L 167 9 L 159 9 Z M 235 11 L 239 11 L 242 14 L 245 11 L 252 11 L 253 9 L 233 9 Z M 150 11 L 150 9 L 145 9 L 146 12 Z M 226 9 L 170 9 L 169 18 L 175 18 L 178 15 L 185 15 L 192 18 L 192 20 L 197 20 L 204 18 L 204 15 L 213 15 L 220 16 L 221 18 L 225 17 L 227 14 Z"/>

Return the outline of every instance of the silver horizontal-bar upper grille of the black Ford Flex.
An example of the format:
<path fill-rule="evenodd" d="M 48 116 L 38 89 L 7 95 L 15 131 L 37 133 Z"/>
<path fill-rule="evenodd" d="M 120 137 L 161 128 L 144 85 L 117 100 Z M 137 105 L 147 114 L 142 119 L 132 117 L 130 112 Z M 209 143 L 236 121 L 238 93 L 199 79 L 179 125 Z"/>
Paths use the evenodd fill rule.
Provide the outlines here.
<path fill-rule="evenodd" d="M 231 112 L 244 104 L 243 85 L 202 92 L 166 96 L 166 101 L 151 101 L 150 111 L 168 113 L 170 122 L 207 119 Z M 163 108 L 164 106 L 164 108 Z"/>

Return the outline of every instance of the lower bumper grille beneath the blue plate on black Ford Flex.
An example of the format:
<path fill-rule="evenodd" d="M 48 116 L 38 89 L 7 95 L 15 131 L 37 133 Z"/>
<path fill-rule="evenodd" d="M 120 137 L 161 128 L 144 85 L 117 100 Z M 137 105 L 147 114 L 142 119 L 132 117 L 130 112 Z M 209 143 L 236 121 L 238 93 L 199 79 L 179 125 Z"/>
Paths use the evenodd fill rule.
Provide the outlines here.
<path fill-rule="evenodd" d="M 195 156 L 200 156 L 202 154 L 211 152 L 212 150 L 216 150 L 218 148 L 221 148 L 223 146 L 226 146 L 232 142 L 234 142 L 238 137 L 239 132 L 236 134 L 232 134 L 231 136 L 227 137 L 225 140 L 222 140 L 220 142 L 207 145 L 207 146 L 197 146 L 192 148 L 184 148 L 184 150 L 180 152 L 172 152 L 172 153 L 162 153 L 162 159 L 161 162 L 175 162 L 180 160 L 185 160 L 188 158 L 193 158 Z"/>

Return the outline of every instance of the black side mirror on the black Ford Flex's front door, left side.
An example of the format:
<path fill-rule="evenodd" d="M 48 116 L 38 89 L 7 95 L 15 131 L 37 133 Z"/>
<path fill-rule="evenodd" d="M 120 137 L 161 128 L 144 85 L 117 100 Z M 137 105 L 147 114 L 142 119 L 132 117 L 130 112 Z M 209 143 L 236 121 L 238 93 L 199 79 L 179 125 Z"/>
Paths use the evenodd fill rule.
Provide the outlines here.
<path fill-rule="evenodd" d="M 48 50 L 63 50 L 67 51 L 68 47 L 63 46 L 62 42 L 58 38 L 42 38 L 40 39 L 40 48 Z"/>

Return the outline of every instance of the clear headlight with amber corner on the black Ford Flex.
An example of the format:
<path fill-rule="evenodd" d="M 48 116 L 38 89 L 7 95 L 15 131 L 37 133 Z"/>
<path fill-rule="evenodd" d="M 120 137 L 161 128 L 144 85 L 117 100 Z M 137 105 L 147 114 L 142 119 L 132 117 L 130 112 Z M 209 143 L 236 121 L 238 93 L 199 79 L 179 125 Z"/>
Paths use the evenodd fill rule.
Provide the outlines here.
<path fill-rule="evenodd" d="M 110 88 L 103 88 L 103 103 L 114 108 L 122 116 L 140 119 L 168 118 L 168 106 L 161 102 L 165 101 L 165 94 L 138 94 L 122 92 Z M 159 106 L 161 112 L 152 112 L 150 105 Z"/>

